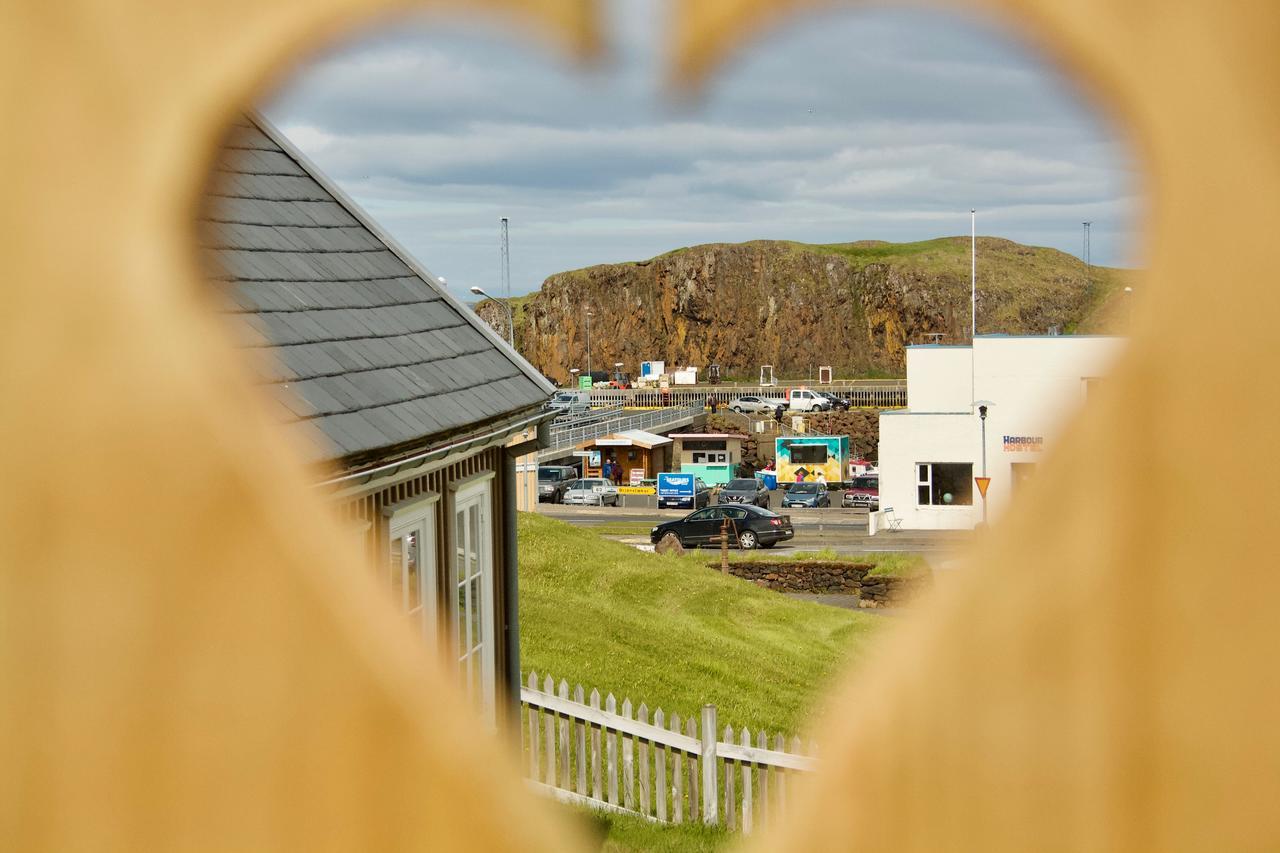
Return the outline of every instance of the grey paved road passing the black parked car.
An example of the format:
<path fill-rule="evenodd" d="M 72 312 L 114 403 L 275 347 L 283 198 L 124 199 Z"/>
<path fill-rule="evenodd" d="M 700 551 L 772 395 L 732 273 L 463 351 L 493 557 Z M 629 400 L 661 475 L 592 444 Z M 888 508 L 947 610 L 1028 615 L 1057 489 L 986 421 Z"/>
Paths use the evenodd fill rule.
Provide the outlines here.
<path fill-rule="evenodd" d="M 582 526 L 635 523 L 655 525 L 680 519 L 687 510 L 655 510 L 650 507 L 580 507 L 543 503 L 539 511 L 554 519 Z M 867 511 L 831 507 L 822 510 L 787 510 L 796 535 L 780 544 L 774 553 L 787 551 L 819 551 L 831 548 L 837 553 L 906 552 L 931 555 L 931 561 L 943 558 L 957 544 L 968 540 L 966 532 L 955 530 L 900 530 L 867 535 Z M 634 544 L 648 543 L 644 533 L 620 535 L 618 539 Z"/>

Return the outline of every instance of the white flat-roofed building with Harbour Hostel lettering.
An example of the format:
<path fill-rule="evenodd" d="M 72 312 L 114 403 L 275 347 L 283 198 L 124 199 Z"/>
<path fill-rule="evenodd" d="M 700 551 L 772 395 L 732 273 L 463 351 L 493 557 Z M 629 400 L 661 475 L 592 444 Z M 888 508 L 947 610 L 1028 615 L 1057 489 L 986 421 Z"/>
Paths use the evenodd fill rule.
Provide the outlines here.
<path fill-rule="evenodd" d="M 1106 375 L 1123 338 L 979 336 L 973 346 L 906 350 L 906 409 L 879 419 L 881 510 L 904 529 L 963 529 L 982 521 L 987 407 L 988 517 L 1036 473 L 1070 415 Z"/>

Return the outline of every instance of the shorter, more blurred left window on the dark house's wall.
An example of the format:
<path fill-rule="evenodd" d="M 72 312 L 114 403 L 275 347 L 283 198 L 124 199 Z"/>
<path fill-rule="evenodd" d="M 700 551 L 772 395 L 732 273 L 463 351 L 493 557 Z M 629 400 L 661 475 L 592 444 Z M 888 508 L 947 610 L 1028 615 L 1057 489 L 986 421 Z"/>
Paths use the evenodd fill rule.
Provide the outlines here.
<path fill-rule="evenodd" d="M 385 574 L 392 599 L 429 642 L 436 637 L 436 500 L 420 501 L 392 515 Z"/>

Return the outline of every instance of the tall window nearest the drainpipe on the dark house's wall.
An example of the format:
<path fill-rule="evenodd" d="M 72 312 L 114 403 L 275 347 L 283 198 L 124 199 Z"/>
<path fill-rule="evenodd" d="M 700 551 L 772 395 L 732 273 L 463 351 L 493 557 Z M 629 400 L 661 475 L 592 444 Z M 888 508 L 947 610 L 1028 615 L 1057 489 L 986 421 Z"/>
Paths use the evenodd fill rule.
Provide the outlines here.
<path fill-rule="evenodd" d="M 449 571 L 453 648 L 462 685 L 494 719 L 495 639 L 493 521 L 489 482 L 458 489 L 453 501 L 453 566 Z"/>

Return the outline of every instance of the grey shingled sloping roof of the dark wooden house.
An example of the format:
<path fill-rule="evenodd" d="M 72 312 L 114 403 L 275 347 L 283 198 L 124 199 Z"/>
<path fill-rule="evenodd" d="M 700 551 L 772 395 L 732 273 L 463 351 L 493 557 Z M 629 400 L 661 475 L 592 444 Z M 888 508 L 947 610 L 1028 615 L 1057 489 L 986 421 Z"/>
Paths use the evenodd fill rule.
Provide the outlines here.
<path fill-rule="evenodd" d="M 216 168 L 202 219 L 212 278 L 315 461 L 430 442 L 547 401 L 545 379 L 265 122 L 233 128 Z"/>

